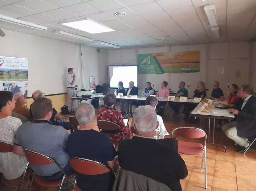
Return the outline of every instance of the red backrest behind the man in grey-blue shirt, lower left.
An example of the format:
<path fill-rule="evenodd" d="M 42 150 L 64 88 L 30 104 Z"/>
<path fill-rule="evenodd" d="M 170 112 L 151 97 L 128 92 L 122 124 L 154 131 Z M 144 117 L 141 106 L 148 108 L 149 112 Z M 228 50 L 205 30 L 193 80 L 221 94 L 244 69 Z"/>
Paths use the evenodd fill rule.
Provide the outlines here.
<path fill-rule="evenodd" d="M 47 157 L 45 155 L 42 155 L 38 152 L 24 149 L 25 151 L 25 156 L 27 158 L 27 161 L 29 164 L 33 165 L 47 165 L 47 164 L 53 164 L 56 163 L 55 160 L 51 159 L 50 157 Z"/>

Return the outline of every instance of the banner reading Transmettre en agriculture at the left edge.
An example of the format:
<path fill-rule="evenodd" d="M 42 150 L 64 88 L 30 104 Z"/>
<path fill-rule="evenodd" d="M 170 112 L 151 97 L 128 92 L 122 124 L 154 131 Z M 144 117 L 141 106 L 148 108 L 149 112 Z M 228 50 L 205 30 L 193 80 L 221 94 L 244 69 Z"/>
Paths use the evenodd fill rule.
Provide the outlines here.
<path fill-rule="evenodd" d="M 0 90 L 22 92 L 27 99 L 28 59 L 0 56 Z"/>

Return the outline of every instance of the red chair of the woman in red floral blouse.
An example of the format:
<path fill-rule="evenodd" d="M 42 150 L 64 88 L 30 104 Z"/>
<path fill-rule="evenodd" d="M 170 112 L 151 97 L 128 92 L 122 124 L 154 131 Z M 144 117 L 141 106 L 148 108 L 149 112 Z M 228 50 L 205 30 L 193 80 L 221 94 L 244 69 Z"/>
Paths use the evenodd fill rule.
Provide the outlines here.
<path fill-rule="evenodd" d="M 117 131 L 117 130 L 119 130 L 120 133 L 123 135 L 123 139 L 124 139 L 123 131 L 117 123 L 113 123 L 111 121 L 106 121 L 106 120 L 99 120 L 99 121 L 97 121 L 97 126 L 98 126 L 100 132 L 102 132 L 102 130 L 105 130 L 105 131 Z M 102 132 L 102 133 L 104 133 L 104 132 Z M 111 134 L 111 133 L 109 133 L 109 134 Z M 116 133 L 113 133 L 113 134 L 116 134 Z M 115 145 L 115 148 L 118 147 L 118 144 L 120 142 L 121 141 L 117 141 L 117 142 L 112 141 L 113 145 Z"/>

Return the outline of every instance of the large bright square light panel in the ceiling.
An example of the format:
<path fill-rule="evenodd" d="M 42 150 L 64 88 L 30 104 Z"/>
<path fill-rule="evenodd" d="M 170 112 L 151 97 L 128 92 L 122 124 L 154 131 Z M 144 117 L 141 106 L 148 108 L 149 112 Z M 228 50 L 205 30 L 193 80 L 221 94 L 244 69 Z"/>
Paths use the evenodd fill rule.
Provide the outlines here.
<path fill-rule="evenodd" d="M 83 18 L 83 19 L 79 19 L 76 21 L 71 21 L 71 22 L 61 22 L 60 24 L 68 26 L 68 27 L 72 27 L 78 30 L 82 30 L 85 32 L 89 32 L 92 34 L 95 33 L 100 33 L 100 32 L 110 32 L 110 31 L 114 31 L 111 28 L 108 28 L 104 25 L 102 25 L 101 23 L 98 23 L 92 19 L 89 18 Z"/>

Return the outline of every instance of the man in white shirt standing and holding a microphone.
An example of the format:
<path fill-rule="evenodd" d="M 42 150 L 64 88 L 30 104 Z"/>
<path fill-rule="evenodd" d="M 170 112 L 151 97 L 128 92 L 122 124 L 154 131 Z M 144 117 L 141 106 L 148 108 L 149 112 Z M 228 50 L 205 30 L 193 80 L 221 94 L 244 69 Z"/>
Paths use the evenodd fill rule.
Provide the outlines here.
<path fill-rule="evenodd" d="M 73 68 L 68 69 L 68 74 L 66 75 L 65 81 L 66 81 L 66 86 L 67 86 L 67 93 L 68 93 L 68 109 L 69 113 L 73 114 L 76 107 L 77 103 L 75 100 L 71 100 L 72 97 L 75 97 L 75 87 L 78 87 L 77 85 L 75 86 L 75 73 L 73 71 Z"/>

